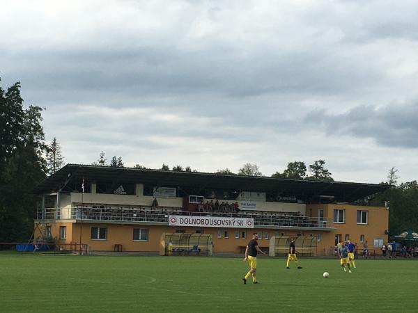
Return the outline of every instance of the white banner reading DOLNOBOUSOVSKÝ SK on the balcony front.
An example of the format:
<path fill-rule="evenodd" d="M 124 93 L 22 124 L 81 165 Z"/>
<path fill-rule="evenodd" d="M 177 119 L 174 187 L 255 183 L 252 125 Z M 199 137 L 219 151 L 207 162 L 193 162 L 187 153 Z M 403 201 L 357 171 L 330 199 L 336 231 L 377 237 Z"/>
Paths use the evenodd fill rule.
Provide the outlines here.
<path fill-rule="evenodd" d="M 169 226 L 254 228 L 254 218 L 170 215 Z"/>

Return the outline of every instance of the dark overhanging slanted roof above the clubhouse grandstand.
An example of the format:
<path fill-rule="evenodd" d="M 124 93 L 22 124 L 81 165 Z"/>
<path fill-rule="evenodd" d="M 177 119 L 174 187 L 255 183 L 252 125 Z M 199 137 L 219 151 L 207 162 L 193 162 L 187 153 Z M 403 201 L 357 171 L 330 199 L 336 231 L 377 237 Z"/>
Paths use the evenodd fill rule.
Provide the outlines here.
<path fill-rule="evenodd" d="M 389 188 L 389 186 L 381 184 L 321 182 L 206 172 L 67 164 L 38 184 L 34 191 L 36 193 L 54 192 L 59 190 L 65 182 L 81 183 L 83 177 L 86 182 L 123 182 L 180 188 L 274 192 L 279 195 L 293 195 L 301 200 L 311 200 L 323 196 L 341 202 L 353 202 Z"/>

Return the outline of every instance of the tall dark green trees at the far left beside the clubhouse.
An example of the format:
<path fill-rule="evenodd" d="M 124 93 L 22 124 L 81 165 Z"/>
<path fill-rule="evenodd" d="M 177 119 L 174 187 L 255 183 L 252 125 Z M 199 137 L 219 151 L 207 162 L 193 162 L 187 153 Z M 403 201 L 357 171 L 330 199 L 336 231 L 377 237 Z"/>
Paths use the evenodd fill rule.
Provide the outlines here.
<path fill-rule="evenodd" d="M 20 83 L 0 88 L 0 242 L 29 239 L 38 202 L 31 191 L 47 171 L 42 109 L 22 103 Z"/>

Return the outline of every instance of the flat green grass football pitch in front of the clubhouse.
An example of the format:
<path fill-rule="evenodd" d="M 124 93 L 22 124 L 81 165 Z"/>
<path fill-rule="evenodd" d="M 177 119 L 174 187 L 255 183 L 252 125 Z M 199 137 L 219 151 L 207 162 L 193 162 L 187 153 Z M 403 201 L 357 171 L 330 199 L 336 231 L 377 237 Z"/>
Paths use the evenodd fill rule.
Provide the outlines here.
<path fill-rule="evenodd" d="M 0 252 L 0 312 L 418 312 L 418 262 Z M 323 272 L 330 273 L 323 278 Z"/>

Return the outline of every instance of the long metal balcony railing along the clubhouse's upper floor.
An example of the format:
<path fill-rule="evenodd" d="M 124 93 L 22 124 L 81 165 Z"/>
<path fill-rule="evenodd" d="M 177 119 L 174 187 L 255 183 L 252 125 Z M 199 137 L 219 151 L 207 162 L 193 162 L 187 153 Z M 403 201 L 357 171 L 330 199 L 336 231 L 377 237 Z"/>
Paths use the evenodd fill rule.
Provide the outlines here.
<path fill-rule="evenodd" d="M 45 209 L 38 214 L 38 220 L 56 219 L 56 209 Z M 112 207 L 112 206 L 75 206 L 61 209 L 59 219 L 85 221 L 120 221 L 138 223 L 169 223 L 169 215 L 177 216 L 217 216 L 231 218 L 254 218 L 254 226 L 267 227 L 316 227 L 330 228 L 332 220 L 302 216 L 298 212 L 240 211 L 239 213 L 212 213 L 182 211 L 181 208 L 158 207 Z"/>

